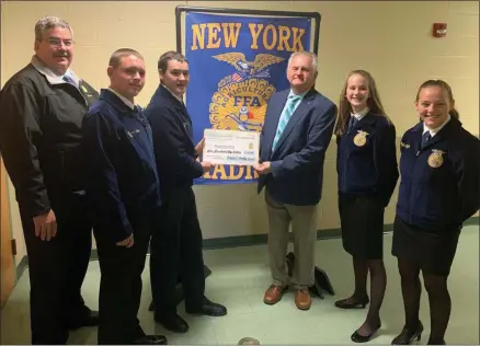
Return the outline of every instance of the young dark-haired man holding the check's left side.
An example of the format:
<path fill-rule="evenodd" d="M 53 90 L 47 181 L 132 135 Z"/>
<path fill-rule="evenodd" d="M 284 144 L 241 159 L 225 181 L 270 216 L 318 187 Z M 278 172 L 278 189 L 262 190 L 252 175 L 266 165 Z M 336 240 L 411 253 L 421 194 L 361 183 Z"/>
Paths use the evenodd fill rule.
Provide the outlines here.
<path fill-rule="evenodd" d="M 151 290 L 155 320 L 169 331 L 185 333 L 188 325 L 176 314 L 179 277 L 187 313 L 221 316 L 227 309 L 204 296 L 203 239 L 192 185 L 212 164 L 195 161 L 203 141 L 194 146 L 192 119 L 182 100 L 188 85 L 188 62 L 182 54 L 168 51 L 160 56 L 158 69 L 160 85 L 146 108 L 163 200 L 150 245 Z"/>

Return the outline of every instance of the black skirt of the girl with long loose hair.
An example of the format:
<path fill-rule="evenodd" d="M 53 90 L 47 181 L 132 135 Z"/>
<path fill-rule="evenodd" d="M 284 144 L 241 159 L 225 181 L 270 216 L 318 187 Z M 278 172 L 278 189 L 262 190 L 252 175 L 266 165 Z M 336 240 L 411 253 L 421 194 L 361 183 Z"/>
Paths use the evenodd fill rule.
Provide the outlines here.
<path fill-rule="evenodd" d="M 384 258 L 385 208 L 373 197 L 339 194 L 343 249 L 362 260 Z"/>

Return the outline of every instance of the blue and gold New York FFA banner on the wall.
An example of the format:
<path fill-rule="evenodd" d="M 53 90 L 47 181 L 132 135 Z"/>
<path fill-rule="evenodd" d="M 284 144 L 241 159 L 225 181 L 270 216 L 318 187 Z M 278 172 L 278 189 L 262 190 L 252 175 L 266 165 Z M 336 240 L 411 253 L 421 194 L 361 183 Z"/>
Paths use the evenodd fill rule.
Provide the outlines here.
<path fill-rule="evenodd" d="M 309 18 L 186 13 L 186 108 L 197 143 L 206 128 L 260 131 L 266 104 L 289 86 L 288 58 L 310 50 Z M 195 184 L 256 181 L 250 166 L 217 165 Z"/>

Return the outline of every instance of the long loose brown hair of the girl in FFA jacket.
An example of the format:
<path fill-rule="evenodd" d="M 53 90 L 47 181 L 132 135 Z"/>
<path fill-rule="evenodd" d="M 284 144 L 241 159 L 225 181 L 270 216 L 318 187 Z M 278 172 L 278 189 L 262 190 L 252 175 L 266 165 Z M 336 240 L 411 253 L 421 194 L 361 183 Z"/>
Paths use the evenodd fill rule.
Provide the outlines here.
<path fill-rule="evenodd" d="M 348 100 L 346 100 L 346 89 L 348 88 L 348 79 L 354 74 L 362 76 L 368 82 L 367 106 L 370 109 L 370 112 L 376 115 L 385 116 L 390 123 L 389 117 L 385 114 L 384 106 L 380 101 L 380 95 L 378 94 L 377 85 L 372 74 L 365 70 L 353 70 L 352 72 L 348 73 L 345 80 L 345 84 L 343 85 L 342 92 L 340 93 L 339 120 L 336 122 L 336 126 L 334 130 L 334 134 L 336 136 L 343 135 L 348 126 L 348 122 L 352 113 L 352 105 L 350 104 Z"/>

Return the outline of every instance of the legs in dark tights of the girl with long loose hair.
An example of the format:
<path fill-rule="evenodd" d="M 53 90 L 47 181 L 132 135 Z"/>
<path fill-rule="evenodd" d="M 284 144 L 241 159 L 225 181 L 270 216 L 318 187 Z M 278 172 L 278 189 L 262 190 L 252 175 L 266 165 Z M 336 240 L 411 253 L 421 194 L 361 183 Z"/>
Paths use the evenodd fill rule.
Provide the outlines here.
<path fill-rule="evenodd" d="M 384 301 L 385 289 L 387 288 L 387 274 L 382 260 L 353 258 L 355 273 L 355 292 L 352 299 L 363 301 L 367 295 L 367 276 L 370 273 L 370 305 L 367 319 L 361 327 L 361 334 L 368 335 L 378 327 L 380 322 L 380 308 Z"/>

